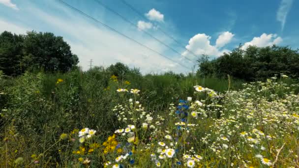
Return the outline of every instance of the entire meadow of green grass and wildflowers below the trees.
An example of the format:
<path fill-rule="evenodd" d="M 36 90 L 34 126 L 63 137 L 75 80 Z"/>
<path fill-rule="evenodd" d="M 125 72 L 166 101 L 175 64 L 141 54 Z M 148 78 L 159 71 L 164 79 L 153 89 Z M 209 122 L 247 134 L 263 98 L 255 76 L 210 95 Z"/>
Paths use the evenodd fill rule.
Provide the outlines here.
<path fill-rule="evenodd" d="M 0 73 L 0 167 L 296 168 L 299 84 L 278 76 Z"/>

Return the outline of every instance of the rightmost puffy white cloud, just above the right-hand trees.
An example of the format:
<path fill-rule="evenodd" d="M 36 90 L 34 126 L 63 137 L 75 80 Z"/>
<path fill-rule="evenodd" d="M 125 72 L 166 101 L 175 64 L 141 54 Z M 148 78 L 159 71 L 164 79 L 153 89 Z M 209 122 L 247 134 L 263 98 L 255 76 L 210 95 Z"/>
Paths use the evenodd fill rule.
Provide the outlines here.
<path fill-rule="evenodd" d="M 257 47 L 266 47 L 266 46 L 271 46 L 273 44 L 279 44 L 282 42 L 281 37 L 277 37 L 277 34 L 266 34 L 263 33 L 260 37 L 253 37 L 253 39 L 249 42 L 246 42 L 243 46 L 242 49 L 245 50 L 248 46 L 254 45 Z"/>

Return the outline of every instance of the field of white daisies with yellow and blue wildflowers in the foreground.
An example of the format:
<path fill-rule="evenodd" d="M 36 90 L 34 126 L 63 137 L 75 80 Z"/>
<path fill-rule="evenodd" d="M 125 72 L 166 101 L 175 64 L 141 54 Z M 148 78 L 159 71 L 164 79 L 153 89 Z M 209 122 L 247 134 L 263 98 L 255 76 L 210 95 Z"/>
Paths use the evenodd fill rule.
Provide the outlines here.
<path fill-rule="evenodd" d="M 243 84 L 239 90 L 228 87 L 224 92 L 190 86 L 193 93 L 185 99 L 155 109 L 147 107 L 149 103 L 143 104 L 146 101 L 142 90 L 131 88 L 129 82 L 114 85 L 117 77 L 111 77 L 109 88 L 105 88 L 109 92 L 105 94 L 115 94 L 118 100 L 111 103 L 116 105 L 101 116 L 88 108 L 83 109 L 86 113 L 70 115 L 65 109 L 75 105 L 65 106 L 63 115 L 68 120 L 54 126 L 52 123 L 53 127 L 40 121 L 44 122 L 44 128 L 38 132 L 40 141 L 31 143 L 30 150 L 22 148 L 30 140 L 18 135 L 24 134 L 20 128 L 28 127 L 32 132 L 38 128 L 19 116 L 7 119 L 8 115 L 16 115 L 8 112 L 25 115 L 22 107 L 14 111 L 4 108 L 1 167 L 298 168 L 299 95 L 295 90 L 299 84 L 286 84 L 287 78 L 281 75 L 280 79 Z M 57 79 L 56 84 L 63 84 L 63 80 Z M 38 89 L 34 89 L 38 96 Z M 56 92 L 59 91 L 58 88 Z M 39 97 L 32 101 L 45 100 Z M 92 101 L 93 98 L 87 98 L 87 102 Z M 51 109 L 48 103 L 43 103 L 39 110 Z M 60 120 L 55 113 L 51 115 Z M 39 116 L 34 117 L 31 124 L 39 122 Z M 97 117 L 102 117 L 109 128 L 91 124 Z M 69 128 L 70 123 L 75 127 Z"/>

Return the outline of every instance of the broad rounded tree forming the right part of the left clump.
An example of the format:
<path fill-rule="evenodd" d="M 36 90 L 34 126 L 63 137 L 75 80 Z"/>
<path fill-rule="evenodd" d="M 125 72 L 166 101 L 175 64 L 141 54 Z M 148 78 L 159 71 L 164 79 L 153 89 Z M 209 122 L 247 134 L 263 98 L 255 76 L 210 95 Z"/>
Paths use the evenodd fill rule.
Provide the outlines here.
<path fill-rule="evenodd" d="M 79 62 L 78 56 L 72 54 L 63 38 L 50 32 L 27 32 L 23 54 L 24 66 L 29 70 L 66 72 Z"/>

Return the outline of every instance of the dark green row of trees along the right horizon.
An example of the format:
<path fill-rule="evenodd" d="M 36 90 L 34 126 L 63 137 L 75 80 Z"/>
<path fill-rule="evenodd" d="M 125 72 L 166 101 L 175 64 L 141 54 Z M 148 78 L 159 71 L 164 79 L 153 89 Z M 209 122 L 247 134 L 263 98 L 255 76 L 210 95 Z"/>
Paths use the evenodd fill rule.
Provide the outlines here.
<path fill-rule="evenodd" d="M 292 78 L 299 77 L 299 50 L 290 47 L 256 47 L 241 46 L 231 53 L 209 59 L 203 55 L 198 59 L 199 76 L 216 76 L 226 78 L 231 75 L 246 81 L 263 81 L 281 73 Z"/>

